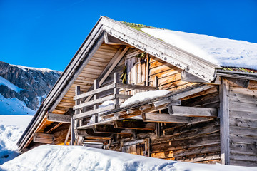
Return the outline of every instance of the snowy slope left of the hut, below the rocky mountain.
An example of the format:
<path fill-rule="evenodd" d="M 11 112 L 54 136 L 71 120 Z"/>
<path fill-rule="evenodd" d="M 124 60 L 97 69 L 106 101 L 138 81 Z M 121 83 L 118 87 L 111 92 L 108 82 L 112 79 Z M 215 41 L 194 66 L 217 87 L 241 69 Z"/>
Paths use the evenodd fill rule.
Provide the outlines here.
<path fill-rule="evenodd" d="M 31 115 L 0 115 L 0 165 L 19 155 L 16 142 L 31 118 Z"/>

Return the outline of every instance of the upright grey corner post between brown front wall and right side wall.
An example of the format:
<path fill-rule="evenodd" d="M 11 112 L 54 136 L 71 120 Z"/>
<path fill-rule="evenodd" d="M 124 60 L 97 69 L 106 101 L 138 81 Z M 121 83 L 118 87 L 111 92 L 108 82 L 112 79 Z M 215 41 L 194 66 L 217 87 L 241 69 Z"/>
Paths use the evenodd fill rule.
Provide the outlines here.
<path fill-rule="evenodd" d="M 225 78 L 222 78 L 221 83 L 221 164 L 229 165 L 229 83 Z"/>

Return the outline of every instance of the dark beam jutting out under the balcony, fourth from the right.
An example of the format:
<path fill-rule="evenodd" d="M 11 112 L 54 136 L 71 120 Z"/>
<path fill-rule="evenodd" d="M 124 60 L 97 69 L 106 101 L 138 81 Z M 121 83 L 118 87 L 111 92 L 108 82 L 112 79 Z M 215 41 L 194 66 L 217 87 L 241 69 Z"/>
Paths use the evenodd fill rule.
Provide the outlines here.
<path fill-rule="evenodd" d="M 125 129 L 114 128 L 114 125 L 94 125 L 93 126 L 94 133 L 116 133 L 116 134 L 126 134 L 131 135 L 131 133 L 127 133 L 124 131 Z"/>

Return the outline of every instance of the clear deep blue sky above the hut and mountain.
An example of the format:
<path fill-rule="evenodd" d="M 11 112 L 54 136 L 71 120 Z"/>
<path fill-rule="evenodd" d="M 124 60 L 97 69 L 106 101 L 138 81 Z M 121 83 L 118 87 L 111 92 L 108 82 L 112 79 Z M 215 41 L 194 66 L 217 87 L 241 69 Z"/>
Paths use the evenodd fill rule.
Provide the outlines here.
<path fill-rule="evenodd" d="M 0 0 L 0 61 L 64 71 L 100 15 L 257 43 L 257 0 Z"/>

